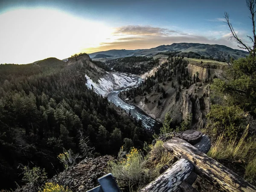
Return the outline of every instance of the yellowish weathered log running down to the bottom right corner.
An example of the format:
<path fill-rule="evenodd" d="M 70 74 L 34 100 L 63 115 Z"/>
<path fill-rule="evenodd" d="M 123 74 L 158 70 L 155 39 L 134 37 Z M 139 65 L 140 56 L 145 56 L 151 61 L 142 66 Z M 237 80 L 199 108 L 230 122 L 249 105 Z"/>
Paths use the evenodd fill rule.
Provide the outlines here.
<path fill-rule="evenodd" d="M 163 146 L 175 157 L 185 158 L 192 162 L 195 167 L 194 172 L 206 178 L 220 191 L 256 192 L 255 186 L 180 138 L 173 138 Z"/>

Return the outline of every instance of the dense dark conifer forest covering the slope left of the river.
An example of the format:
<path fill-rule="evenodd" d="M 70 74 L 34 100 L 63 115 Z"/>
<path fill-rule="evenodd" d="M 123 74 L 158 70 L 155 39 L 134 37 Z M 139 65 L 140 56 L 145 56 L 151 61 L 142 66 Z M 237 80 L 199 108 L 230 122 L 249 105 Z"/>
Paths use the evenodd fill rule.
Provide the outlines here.
<path fill-rule="evenodd" d="M 56 58 L 0 65 L 0 189 L 21 183 L 20 163 L 45 168 L 49 177 L 62 170 L 63 148 L 81 151 L 79 129 L 102 155 L 151 139 L 140 122 L 86 87 L 86 70 Z"/>

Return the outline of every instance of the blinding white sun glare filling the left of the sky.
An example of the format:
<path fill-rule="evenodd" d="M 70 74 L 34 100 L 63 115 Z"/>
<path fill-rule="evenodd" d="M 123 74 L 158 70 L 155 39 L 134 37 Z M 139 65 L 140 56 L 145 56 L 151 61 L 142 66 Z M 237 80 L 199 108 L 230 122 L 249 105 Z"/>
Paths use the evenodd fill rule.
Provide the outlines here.
<path fill-rule="evenodd" d="M 113 31 L 102 23 L 49 9 L 6 12 L 0 15 L 0 23 L 0 62 L 19 64 L 48 57 L 67 58 L 109 41 Z"/>

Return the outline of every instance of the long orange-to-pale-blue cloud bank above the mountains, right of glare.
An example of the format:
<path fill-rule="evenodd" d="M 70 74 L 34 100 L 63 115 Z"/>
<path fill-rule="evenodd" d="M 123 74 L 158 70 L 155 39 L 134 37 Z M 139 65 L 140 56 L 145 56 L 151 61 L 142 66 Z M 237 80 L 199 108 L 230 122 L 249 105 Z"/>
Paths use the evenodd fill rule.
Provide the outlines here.
<path fill-rule="evenodd" d="M 219 18 L 220 20 L 221 18 Z M 238 32 L 243 36 L 243 32 Z M 210 34 L 210 35 L 209 35 Z M 113 41 L 102 42 L 99 47 L 84 48 L 82 52 L 97 52 L 110 49 L 150 49 L 173 43 L 220 44 L 239 49 L 236 41 L 230 41 L 227 31 L 208 31 L 207 33 L 185 33 L 153 26 L 122 26 L 113 32 Z M 242 37 L 241 37 L 242 38 Z M 244 40 L 244 38 L 242 38 Z M 244 41 L 246 42 L 246 41 Z"/>

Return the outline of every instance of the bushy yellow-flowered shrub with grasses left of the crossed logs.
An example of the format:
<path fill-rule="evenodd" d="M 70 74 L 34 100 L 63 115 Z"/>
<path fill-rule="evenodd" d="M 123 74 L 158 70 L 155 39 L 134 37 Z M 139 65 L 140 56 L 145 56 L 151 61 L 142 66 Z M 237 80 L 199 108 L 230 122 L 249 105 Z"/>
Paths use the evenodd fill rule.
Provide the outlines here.
<path fill-rule="evenodd" d="M 109 166 L 122 190 L 137 191 L 160 175 L 160 169 L 173 160 L 170 153 L 164 153 L 162 144 L 162 141 L 157 141 L 155 145 L 148 145 L 151 153 L 147 156 L 134 147 L 129 153 L 123 147 L 120 149 L 117 161 L 109 162 Z M 149 157 L 157 154 L 160 158 L 153 162 Z"/>

